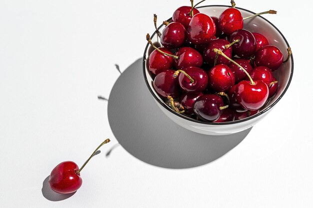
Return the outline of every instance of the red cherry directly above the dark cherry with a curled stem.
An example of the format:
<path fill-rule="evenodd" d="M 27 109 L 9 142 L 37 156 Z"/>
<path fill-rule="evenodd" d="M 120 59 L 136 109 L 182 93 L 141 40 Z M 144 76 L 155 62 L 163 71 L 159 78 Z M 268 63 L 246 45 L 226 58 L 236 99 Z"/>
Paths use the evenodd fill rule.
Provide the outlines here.
<path fill-rule="evenodd" d="M 191 47 L 181 47 L 176 53 L 178 59 L 174 58 L 174 66 L 176 69 L 184 69 L 189 66 L 201 67 L 203 58 L 201 54 Z"/>

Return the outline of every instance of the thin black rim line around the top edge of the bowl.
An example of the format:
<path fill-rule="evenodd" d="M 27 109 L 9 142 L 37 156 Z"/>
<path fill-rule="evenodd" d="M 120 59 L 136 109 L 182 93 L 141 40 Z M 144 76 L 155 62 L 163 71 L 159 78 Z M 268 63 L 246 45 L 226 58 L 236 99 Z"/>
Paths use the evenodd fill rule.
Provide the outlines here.
<path fill-rule="evenodd" d="M 204 6 L 198 6 L 196 8 L 203 8 L 203 7 L 228 7 L 230 8 L 231 6 L 229 5 L 204 5 Z M 247 12 L 250 12 L 252 14 L 255 14 L 255 12 L 253 11 L 250 11 L 248 9 L 245 9 L 245 8 L 240 8 L 240 7 L 236 7 L 238 9 L 241 9 L 241 10 L 244 10 L 244 11 L 247 11 Z M 265 21 L 267 21 L 270 25 L 272 25 L 277 31 L 278 33 L 281 35 L 281 37 L 283 38 L 283 40 L 285 41 L 287 47 L 289 47 L 289 43 L 288 41 L 286 40 L 286 38 L 283 36 L 283 34 L 280 32 L 280 30 L 275 26 L 273 25 L 270 21 L 268 21 L 266 18 L 264 18 L 263 16 L 260 16 L 260 18 L 264 19 Z M 171 17 L 167 20 L 169 21 L 171 19 Z M 161 24 L 157 29 L 160 29 L 161 27 L 163 26 L 163 24 Z M 151 38 L 156 34 L 156 31 L 153 32 L 153 34 L 151 35 Z M 149 85 L 149 82 L 147 80 L 147 77 L 146 77 L 146 73 L 145 73 L 145 66 L 146 66 L 146 51 L 148 49 L 148 46 L 149 46 L 149 43 L 146 44 L 145 46 L 145 49 L 144 49 L 144 52 L 143 52 L 143 58 L 142 58 L 142 69 L 143 69 L 143 76 L 144 76 L 144 81 L 145 81 L 145 84 L 147 85 L 150 93 L 152 94 L 153 98 L 161 105 L 163 106 L 166 110 L 168 110 L 169 112 L 171 112 L 172 114 L 176 115 L 176 116 L 179 116 L 180 118 L 182 119 L 186 119 L 188 121 L 191 121 L 191 122 L 195 122 L 195 123 L 200 123 L 200 124 L 205 124 L 205 125 L 213 125 L 213 126 L 223 126 L 223 125 L 230 125 L 230 124 L 237 124 L 237 123 L 241 123 L 241 122 L 244 122 L 244 121 L 247 121 L 247 120 L 251 120 L 255 117 L 258 117 L 259 115 L 269 111 L 272 107 L 274 107 L 274 105 L 282 98 L 282 96 L 285 94 L 285 92 L 287 91 L 289 85 L 290 85 L 290 82 L 291 82 L 291 79 L 292 79 L 292 75 L 293 75 L 293 55 L 291 53 L 291 56 L 290 56 L 290 60 L 291 60 L 291 72 L 290 72 L 290 77 L 289 77 L 289 80 L 288 80 L 288 83 L 285 87 L 285 89 L 283 90 L 283 92 L 281 93 L 281 95 L 277 98 L 277 100 L 275 100 L 275 102 L 273 102 L 271 105 L 269 105 L 267 108 L 265 108 L 264 110 L 254 114 L 253 116 L 249 116 L 247 118 L 244 118 L 244 119 L 241 119 L 241 120 L 236 120 L 236 121 L 229 121 L 229 122 L 218 122 L 218 123 L 214 123 L 214 122 L 205 122 L 205 121 L 201 121 L 201 120 L 195 120 L 195 119 L 192 119 L 192 118 L 189 118 L 187 116 L 183 116 L 179 113 L 176 113 L 175 111 L 173 111 L 172 109 L 168 108 L 167 105 L 165 105 L 165 103 L 161 102 L 157 97 L 156 95 L 154 94 L 154 92 L 152 91 L 152 89 L 150 88 L 150 85 Z"/>

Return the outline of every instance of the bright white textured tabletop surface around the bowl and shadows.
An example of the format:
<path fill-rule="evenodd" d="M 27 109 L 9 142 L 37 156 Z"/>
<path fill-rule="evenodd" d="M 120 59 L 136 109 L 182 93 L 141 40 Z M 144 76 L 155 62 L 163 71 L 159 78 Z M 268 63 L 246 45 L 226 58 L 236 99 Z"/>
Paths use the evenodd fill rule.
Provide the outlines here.
<path fill-rule="evenodd" d="M 123 71 L 142 56 L 152 14 L 161 22 L 188 0 L 0 0 L 0 207 L 310 207 L 312 36 L 310 7 L 302 7 L 309 2 L 236 3 L 278 10 L 265 17 L 292 48 L 292 83 L 229 153 L 172 170 L 143 163 L 121 146 L 105 157 L 117 140 L 107 102 L 97 95 L 109 96 L 119 76 L 114 64 Z M 105 138 L 111 142 L 84 168 L 73 196 L 43 197 L 42 182 L 55 165 L 72 160 L 80 166 Z"/>

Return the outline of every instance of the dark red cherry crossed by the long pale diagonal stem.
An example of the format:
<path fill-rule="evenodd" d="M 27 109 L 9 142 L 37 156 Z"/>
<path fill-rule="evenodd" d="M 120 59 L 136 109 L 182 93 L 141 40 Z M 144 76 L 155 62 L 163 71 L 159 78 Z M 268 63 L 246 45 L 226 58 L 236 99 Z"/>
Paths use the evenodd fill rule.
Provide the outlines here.
<path fill-rule="evenodd" d="M 239 64 L 242 68 L 244 68 L 248 73 L 250 73 L 252 71 L 252 66 L 250 64 L 250 60 L 248 59 L 235 59 L 234 60 L 237 64 Z M 231 69 L 234 77 L 235 77 L 235 83 L 240 82 L 241 80 L 243 80 L 246 77 L 245 72 L 238 67 L 236 64 L 230 62 L 230 64 L 228 65 L 229 68 Z"/>

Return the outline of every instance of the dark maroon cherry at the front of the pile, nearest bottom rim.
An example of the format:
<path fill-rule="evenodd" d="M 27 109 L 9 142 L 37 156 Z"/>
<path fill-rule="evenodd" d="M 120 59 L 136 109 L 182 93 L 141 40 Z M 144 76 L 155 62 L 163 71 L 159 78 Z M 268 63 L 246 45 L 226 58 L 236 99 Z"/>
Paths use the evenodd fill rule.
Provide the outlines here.
<path fill-rule="evenodd" d="M 196 99 L 193 111 L 203 121 L 215 121 L 221 114 L 219 109 L 221 106 L 223 106 L 223 102 L 218 95 L 206 94 Z"/>

